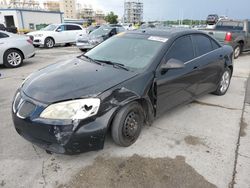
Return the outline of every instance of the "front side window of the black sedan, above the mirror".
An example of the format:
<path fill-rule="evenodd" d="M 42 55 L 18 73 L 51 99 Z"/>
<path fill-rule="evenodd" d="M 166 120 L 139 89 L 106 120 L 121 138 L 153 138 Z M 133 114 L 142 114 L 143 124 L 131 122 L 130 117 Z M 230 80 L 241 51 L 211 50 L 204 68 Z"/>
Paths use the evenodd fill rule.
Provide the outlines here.
<path fill-rule="evenodd" d="M 166 60 L 178 59 L 183 62 L 190 61 L 194 58 L 193 44 L 190 36 L 178 38 L 170 47 Z"/>

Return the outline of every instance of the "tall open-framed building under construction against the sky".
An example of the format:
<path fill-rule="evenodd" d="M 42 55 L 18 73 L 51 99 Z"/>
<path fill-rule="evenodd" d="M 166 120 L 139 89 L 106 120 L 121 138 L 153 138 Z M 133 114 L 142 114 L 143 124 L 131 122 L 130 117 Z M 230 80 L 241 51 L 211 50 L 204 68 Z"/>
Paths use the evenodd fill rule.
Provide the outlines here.
<path fill-rule="evenodd" d="M 140 0 L 125 0 L 124 22 L 141 23 L 143 21 L 143 3 Z"/>

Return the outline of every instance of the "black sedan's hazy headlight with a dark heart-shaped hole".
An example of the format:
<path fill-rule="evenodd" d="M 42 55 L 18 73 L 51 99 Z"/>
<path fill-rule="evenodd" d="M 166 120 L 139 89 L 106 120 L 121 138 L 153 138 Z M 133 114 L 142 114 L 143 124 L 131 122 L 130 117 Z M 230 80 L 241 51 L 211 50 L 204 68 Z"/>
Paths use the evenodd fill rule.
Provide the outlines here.
<path fill-rule="evenodd" d="M 48 106 L 40 115 L 45 119 L 82 120 L 97 114 L 100 99 L 88 98 Z"/>

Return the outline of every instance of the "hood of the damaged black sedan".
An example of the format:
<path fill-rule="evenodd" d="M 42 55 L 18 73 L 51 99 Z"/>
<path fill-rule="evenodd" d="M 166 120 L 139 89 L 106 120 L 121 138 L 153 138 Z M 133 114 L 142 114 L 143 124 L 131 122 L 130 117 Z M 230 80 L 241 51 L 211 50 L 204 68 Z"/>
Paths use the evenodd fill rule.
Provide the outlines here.
<path fill-rule="evenodd" d="M 136 72 L 76 58 L 33 73 L 26 79 L 21 90 L 28 97 L 50 104 L 98 96 L 136 75 Z"/>

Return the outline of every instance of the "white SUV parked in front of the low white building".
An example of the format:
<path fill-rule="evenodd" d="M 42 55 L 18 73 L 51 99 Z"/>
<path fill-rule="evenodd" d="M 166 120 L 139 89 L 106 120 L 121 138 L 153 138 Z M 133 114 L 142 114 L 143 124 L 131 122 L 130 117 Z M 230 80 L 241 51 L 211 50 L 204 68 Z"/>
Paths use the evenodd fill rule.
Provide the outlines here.
<path fill-rule="evenodd" d="M 30 32 L 27 35 L 33 40 L 35 47 L 44 46 L 53 48 L 57 44 L 76 42 L 79 34 L 86 34 L 86 29 L 78 24 L 51 24 L 40 31 Z"/>

